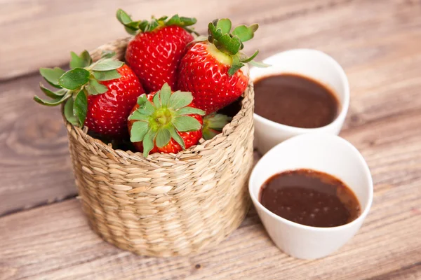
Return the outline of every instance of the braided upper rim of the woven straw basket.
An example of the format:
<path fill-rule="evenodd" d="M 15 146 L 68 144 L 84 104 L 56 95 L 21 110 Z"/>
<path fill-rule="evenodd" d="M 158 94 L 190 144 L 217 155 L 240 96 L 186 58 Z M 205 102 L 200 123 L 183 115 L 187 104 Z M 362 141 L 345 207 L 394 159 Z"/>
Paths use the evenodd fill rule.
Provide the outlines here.
<path fill-rule="evenodd" d="M 106 43 L 104 45 L 100 45 L 100 47 L 96 48 L 95 50 L 93 50 L 91 53 L 95 53 L 98 57 L 98 52 L 102 52 L 103 50 L 115 50 L 116 46 L 118 45 L 119 48 L 124 47 L 126 48 L 126 45 L 128 43 L 128 39 L 130 39 L 131 37 L 126 37 L 126 38 L 121 38 L 121 39 L 117 39 L 114 40 L 110 43 Z M 125 158 L 125 159 L 131 159 L 131 160 L 135 160 L 135 161 L 159 161 L 162 159 L 163 155 L 170 155 L 171 158 L 173 159 L 177 159 L 177 158 L 184 158 L 183 155 L 197 155 L 197 153 L 199 151 L 201 151 L 201 149 L 197 149 L 198 146 L 212 146 L 213 144 L 215 144 L 214 146 L 216 146 L 217 144 L 220 144 L 222 141 L 227 141 L 226 139 L 222 139 L 220 140 L 220 138 L 225 137 L 227 138 L 228 135 L 232 134 L 233 132 L 235 132 L 237 130 L 237 127 L 239 126 L 239 120 L 241 120 L 241 118 L 245 118 L 246 117 L 246 111 L 250 108 L 250 106 L 253 106 L 253 102 L 249 102 L 250 101 L 250 92 L 253 91 L 253 81 L 251 79 L 249 79 L 248 81 L 248 86 L 246 87 L 246 90 L 243 92 L 243 94 L 241 94 L 241 97 L 243 97 L 243 99 L 241 100 L 241 109 L 236 113 L 236 115 L 232 118 L 231 122 L 229 122 L 227 125 L 225 125 L 225 127 L 222 129 L 222 133 L 216 135 L 215 137 L 213 137 L 212 139 L 203 141 L 203 138 L 201 138 L 199 140 L 199 143 L 191 146 L 190 148 L 187 148 L 184 151 L 180 151 L 178 153 L 152 153 L 149 154 L 147 156 L 147 158 L 145 158 L 143 156 L 142 153 L 136 151 L 123 151 L 121 149 L 114 149 L 112 148 L 111 144 L 105 144 L 103 141 L 101 141 L 100 139 L 96 139 L 94 137 L 91 137 L 91 135 L 89 135 L 88 132 L 88 127 L 83 127 L 83 129 L 81 129 L 80 127 L 75 127 L 74 125 L 72 125 L 71 123 L 69 123 L 65 116 L 64 116 L 64 112 L 63 112 L 63 107 L 61 109 L 61 113 L 62 113 L 62 117 L 65 120 L 65 124 L 67 126 L 72 127 L 72 129 L 79 135 L 83 136 L 83 138 L 86 139 L 86 141 L 89 141 L 91 143 L 95 143 L 95 146 L 99 149 L 101 149 L 102 151 L 107 151 L 109 153 L 114 152 L 114 156 L 118 155 L 120 158 Z M 253 113 L 252 113 L 253 114 Z M 231 131 L 231 132 L 229 132 Z M 70 130 L 69 130 L 70 132 Z M 188 157 L 189 159 L 192 159 L 191 157 Z"/>

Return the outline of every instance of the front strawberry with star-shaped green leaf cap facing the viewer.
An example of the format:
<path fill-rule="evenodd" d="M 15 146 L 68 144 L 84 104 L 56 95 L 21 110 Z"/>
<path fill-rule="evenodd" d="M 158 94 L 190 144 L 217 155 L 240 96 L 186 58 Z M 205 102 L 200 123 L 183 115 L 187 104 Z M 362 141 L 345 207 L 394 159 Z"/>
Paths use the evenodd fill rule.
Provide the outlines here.
<path fill-rule="evenodd" d="M 194 108 L 192 100 L 192 93 L 171 92 L 168 83 L 138 98 L 128 118 L 128 130 L 145 158 L 149 153 L 178 153 L 199 142 L 205 112 Z"/>

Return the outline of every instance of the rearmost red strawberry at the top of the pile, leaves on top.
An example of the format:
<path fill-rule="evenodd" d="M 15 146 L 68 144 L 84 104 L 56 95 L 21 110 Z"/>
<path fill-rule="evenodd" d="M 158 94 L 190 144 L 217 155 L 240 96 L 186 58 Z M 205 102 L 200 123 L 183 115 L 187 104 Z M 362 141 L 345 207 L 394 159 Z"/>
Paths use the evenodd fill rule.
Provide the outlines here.
<path fill-rule="evenodd" d="M 133 22 L 123 10 L 117 10 L 117 19 L 129 34 L 135 35 L 128 43 L 126 63 L 136 73 L 147 92 L 161 89 L 168 83 L 172 89 L 177 87 L 177 73 L 180 59 L 186 46 L 193 41 L 189 26 L 196 23 L 195 18 L 174 15 L 172 18 L 152 18 Z"/>

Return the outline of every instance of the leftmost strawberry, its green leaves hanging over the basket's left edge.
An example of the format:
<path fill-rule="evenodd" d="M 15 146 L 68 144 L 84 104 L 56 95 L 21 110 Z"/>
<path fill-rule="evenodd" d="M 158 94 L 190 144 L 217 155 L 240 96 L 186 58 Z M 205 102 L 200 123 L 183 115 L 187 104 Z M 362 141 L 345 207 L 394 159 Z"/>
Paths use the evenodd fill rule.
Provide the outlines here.
<path fill-rule="evenodd" d="M 145 90 L 135 73 L 113 56 L 113 52 L 104 52 L 98 62 L 92 62 L 86 50 L 80 56 L 72 52 L 69 71 L 41 68 L 41 75 L 59 90 L 53 92 L 40 83 L 41 90 L 52 99 L 35 96 L 34 100 L 46 106 L 65 102 L 69 123 L 85 125 L 102 136 L 127 135 L 127 118 Z"/>

